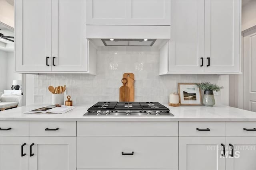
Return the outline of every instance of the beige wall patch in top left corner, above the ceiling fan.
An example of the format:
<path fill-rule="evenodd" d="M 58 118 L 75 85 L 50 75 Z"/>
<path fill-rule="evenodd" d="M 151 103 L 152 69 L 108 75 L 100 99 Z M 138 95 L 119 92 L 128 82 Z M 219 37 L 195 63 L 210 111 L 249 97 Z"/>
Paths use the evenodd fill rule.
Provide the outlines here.
<path fill-rule="evenodd" d="M 14 28 L 14 0 L 0 0 L 0 21 Z"/>

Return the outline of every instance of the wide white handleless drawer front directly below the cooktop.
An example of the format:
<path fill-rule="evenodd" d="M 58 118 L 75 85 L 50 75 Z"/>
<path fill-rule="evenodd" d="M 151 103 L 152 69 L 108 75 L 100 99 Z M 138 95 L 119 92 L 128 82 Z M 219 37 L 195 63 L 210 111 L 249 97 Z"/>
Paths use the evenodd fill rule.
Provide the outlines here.
<path fill-rule="evenodd" d="M 178 136 L 178 121 L 78 121 L 77 136 Z"/>

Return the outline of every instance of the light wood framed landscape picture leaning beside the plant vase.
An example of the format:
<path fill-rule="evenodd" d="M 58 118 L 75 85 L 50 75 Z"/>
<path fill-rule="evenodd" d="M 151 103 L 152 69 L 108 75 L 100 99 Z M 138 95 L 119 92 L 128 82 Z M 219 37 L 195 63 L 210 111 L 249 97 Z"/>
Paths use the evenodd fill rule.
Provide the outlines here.
<path fill-rule="evenodd" d="M 201 91 L 195 83 L 178 83 L 180 105 L 202 105 Z"/>

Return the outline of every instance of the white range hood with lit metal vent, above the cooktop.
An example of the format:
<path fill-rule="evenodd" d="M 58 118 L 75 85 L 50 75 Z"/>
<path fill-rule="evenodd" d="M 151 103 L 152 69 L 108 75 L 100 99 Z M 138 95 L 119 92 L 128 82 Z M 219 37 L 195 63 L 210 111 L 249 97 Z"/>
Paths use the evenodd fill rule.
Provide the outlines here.
<path fill-rule="evenodd" d="M 160 47 L 170 33 L 170 25 L 86 25 L 86 38 L 97 47 Z"/>

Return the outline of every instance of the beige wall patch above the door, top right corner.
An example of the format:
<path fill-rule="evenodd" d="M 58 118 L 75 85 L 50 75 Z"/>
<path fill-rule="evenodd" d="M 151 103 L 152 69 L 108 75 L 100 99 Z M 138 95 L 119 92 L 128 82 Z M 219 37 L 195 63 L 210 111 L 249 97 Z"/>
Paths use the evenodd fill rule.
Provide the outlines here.
<path fill-rule="evenodd" d="M 256 25 L 256 0 L 242 0 L 242 31 Z"/>

